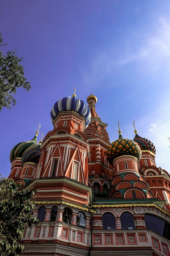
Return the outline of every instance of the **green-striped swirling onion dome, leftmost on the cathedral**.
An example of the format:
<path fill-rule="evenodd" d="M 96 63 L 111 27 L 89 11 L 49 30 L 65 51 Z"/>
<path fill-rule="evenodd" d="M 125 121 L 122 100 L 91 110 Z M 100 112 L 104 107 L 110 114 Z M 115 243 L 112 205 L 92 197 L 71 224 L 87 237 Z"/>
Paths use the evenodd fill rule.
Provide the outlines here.
<path fill-rule="evenodd" d="M 12 162 L 16 157 L 22 157 L 27 151 L 36 148 L 38 146 L 37 135 L 38 132 L 30 141 L 20 142 L 14 146 L 10 153 L 10 161 Z"/>

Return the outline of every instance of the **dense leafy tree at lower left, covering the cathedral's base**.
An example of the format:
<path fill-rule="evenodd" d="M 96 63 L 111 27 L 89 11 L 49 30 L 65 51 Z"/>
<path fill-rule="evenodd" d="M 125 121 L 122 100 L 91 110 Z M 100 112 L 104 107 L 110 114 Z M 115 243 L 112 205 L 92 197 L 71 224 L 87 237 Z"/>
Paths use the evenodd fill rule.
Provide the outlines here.
<path fill-rule="evenodd" d="M 34 193 L 21 190 L 12 179 L 0 179 L 0 256 L 16 256 L 24 249 L 20 240 L 26 225 L 38 223 L 32 215 Z"/>

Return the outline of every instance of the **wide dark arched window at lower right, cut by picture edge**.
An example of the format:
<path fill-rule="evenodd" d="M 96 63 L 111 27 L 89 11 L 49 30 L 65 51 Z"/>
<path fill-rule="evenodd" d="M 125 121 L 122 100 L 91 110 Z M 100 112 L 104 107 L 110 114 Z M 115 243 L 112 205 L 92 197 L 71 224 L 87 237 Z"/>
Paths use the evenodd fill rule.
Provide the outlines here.
<path fill-rule="evenodd" d="M 145 214 L 144 220 L 147 229 L 170 239 L 170 223 L 150 214 Z"/>

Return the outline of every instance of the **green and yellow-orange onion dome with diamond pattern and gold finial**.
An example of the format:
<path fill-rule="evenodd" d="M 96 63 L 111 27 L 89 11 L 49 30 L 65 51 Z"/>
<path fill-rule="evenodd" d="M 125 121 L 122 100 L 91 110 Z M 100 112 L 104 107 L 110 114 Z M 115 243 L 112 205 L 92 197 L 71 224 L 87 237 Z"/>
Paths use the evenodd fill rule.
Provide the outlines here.
<path fill-rule="evenodd" d="M 108 146 L 106 157 L 112 164 L 113 160 L 121 155 L 132 155 L 139 160 L 141 158 L 141 149 L 137 142 L 131 139 L 124 139 L 121 135 L 121 130 L 119 130 L 119 138 Z"/>

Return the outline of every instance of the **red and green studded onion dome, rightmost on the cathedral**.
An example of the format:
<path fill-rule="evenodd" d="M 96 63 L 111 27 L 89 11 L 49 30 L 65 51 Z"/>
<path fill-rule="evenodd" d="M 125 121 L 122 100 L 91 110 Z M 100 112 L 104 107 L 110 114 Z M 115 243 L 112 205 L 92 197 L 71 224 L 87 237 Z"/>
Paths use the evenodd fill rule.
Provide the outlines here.
<path fill-rule="evenodd" d="M 137 130 L 135 130 L 135 138 L 133 140 L 137 142 L 141 150 L 149 150 L 155 155 L 156 149 L 154 144 L 150 140 L 140 137 L 137 134 Z"/>

